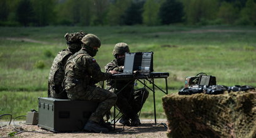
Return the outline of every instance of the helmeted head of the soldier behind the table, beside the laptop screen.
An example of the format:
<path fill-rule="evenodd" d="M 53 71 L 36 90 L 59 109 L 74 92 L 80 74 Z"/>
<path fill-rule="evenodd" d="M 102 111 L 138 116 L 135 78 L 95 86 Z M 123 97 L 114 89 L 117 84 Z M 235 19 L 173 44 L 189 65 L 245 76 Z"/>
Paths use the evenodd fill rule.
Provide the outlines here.
<path fill-rule="evenodd" d="M 113 56 L 118 61 L 118 65 L 124 65 L 126 52 L 130 53 L 129 46 L 126 43 L 117 43 L 114 46 Z"/>

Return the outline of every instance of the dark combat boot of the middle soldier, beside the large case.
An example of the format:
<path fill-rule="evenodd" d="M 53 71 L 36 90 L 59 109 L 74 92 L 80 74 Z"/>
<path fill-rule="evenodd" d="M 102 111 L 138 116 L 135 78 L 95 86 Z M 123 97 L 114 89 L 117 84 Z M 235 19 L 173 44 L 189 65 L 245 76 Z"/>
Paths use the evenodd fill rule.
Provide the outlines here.
<path fill-rule="evenodd" d="M 96 133 L 108 133 L 108 129 L 97 124 L 97 122 L 89 120 L 86 125 L 84 126 L 84 130 L 87 130 L 89 132 L 96 132 Z"/>

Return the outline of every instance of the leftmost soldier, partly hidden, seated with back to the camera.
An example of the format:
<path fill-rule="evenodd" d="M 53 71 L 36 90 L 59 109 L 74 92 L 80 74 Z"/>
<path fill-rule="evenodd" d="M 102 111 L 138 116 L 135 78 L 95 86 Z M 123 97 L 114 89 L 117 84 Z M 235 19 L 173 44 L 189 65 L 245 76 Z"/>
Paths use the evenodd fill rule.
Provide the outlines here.
<path fill-rule="evenodd" d="M 64 80 L 65 71 L 64 66 L 67 59 L 75 52 L 82 48 L 82 38 L 86 35 L 82 31 L 79 33 L 66 33 L 65 39 L 67 40 L 67 49 L 59 51 L 58 55 L 54 58 L 50 75 L 48 78 L 48 97 L 53 98 L 67 98 L 67 93 L 62 82 Z"/>

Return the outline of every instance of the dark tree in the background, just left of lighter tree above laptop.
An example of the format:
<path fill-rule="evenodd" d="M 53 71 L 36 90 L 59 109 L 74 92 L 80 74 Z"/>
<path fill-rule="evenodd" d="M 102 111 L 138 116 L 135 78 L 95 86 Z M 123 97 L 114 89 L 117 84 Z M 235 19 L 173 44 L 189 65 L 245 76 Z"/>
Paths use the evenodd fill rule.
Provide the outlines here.
<path fill-rule="evenodd" d="M 144 1 L 138 1 L 131 3 L 131 6 L 125 12 L 125 24 L 142 24 L 142 8 Z"/>

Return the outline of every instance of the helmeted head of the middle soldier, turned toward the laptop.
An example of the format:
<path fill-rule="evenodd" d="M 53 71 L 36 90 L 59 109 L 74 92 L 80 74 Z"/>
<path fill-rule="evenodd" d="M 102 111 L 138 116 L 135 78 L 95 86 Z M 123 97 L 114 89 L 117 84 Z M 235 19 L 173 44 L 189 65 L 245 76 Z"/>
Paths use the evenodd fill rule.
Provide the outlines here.
<path fill-rule="evenodd" d="M 94 34 L 86 34 L 82 38 L 82 47 L 86 49 L 90 56 L 96 56 L 98 48 L 101 47 L 101 40 Z"/>

